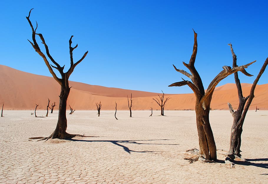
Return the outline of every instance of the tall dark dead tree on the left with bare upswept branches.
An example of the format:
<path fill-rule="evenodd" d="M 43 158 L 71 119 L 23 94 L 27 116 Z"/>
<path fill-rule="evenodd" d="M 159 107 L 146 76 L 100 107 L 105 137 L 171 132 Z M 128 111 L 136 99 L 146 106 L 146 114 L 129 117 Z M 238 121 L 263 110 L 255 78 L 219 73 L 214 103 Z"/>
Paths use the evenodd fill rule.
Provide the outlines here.
<path fill-rule="evenodd" d="M 36 33 L 37 30 L 37 25 L 36 28 L 34 29 L 32 22 L 30 21 L 30 14 L 31 14 L 32 9 L 29 11 L 29 15 L 26 17 L 26 19 L 28 20 L 31 28 L 32 28 L 32 42 L 30 42 L 30 44 L 32 45 L 32 47 L 34 48 L 34 50 L 43 58 L 45 64 L 47 65 L 49 72 L 52 74 L 53 78 L 59 83 L 59 85 L 61 86 L 61 92 L 59 95 L 59 116 L 58 116 L 58 122 L 57 122 L 57 126 L 56 129 L 54 130 L 54 132 L 52 132 L 52 134 L 49 137 L 44 137 L 44 140 L 47 140 L 49 138 L 59 138 L 59 139 L 69 139 L 72 137 L 75 137 L 75 134 L 69 134 L 66 132 L 67 129 L 67 119 L 66 119 L 66 106 L 67 106 L 67 99 L 70 93 L 70 87 L 69 87 L 69 77 L 72 74 L 72 72 L 74 71 L 75 67 L 77 66 L 77 64 L 79 64 L 87 55 L 88 51 L 85 52 L 85 54 L 82 56 L 81 59 L 79 59 L 77 62 L 74 63 L 73 61 L 73 50 L 77 48 L 78 45 L 76 45 L 75 47 L 72 47 L 72 37 L 69 40 L 69 50 L 70 50 L 70 68 L 67 70 L 67 72 L 64 72 L 64 66 L 60 66 L 54 59 L 53 57 L 50 55 L 49 53 L 49 49 L 48 49 L 48 45 L 45 42 L 45 39 L 43 37 L 42 34 L 40 33 Z M 39 48 L 39 45 L 36 41 L 35 36 L 38 35 L 42 41 L 42 44 L 44 44 L 44 47 L 46 49 L 46 54 L 47 56 L 41 51 L 41 49 Z M 51 60 L 51 62 L 54 64 L 49 64 L 49 61 L 47 59 L 47 57 L 49 57 L 49 59 Z M 61 75 L 61 77 L 57 77 L 57 75 L 54 73 L 53 69 L 57 69 L 59 71 L 59 74 Z"/>

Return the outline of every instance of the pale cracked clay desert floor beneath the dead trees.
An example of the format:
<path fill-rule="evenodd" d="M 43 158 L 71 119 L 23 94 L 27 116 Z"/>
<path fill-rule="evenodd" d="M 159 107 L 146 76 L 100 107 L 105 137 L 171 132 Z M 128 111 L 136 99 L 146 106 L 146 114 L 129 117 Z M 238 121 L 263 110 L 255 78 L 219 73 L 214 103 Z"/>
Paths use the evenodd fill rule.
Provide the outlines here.
<path fill-rule="evenodd" d="M 232 116 L 210 112 L 217 163 L 189 163 L 185 151 L 199 148 L 195 111 L 75 111 L 67 114 L 73 140 L 28 140 L 49 136 L 57 111 L 38 118 L 32 111 L 5 111 L 0 117 L 0 183 L 268 183 L 268 111 L 249 111 L 241 150 L 248 162 L 224 163 Z M 69 111 L 67 111 L 69 113 Z M 46 111 L 37 111 L 45 116 Z"/>

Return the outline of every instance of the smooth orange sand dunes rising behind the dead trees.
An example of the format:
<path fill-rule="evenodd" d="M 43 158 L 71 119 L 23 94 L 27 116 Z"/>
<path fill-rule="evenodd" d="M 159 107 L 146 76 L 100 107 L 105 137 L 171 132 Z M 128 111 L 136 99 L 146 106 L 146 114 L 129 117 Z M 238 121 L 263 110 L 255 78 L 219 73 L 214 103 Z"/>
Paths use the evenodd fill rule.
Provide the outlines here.
<path fill-rule="evenodd" d="M 46 109 L 47 98 L 51 102 L 59 102 L 60 86 L 52 78 L 41 75 L 22 72 L 4 65 L 0 65 L 0 103 L 4 102 L 4 109 L 25 110 L 34 109 L 38 104 L 39 109 Z M 114 110 L 115 101 L 118 110 L 128 110 L 127 95 L 132 93 L 133 110 L 160 109 L 152 98 L 158 93 L 102 87 L 80 82 L 70 81 L 71 92 L 67 104 L 74 109 L 96 109 L 96 102 L 102 102 L 103 110 Z M 244 95 L 248 95 L 251 84 L 242 84 Z M 250 109 L 266 110 L 268 84 L 257 85 L 255 98 Z M 161 95 L 161 94 L 160 94 Z M 194 94 L 166 95 L 170 96 L 166 104 L 166 110 L 194 109 Z M 227 102 L 234 108 L 238 106 L 238 98 L 235 84 L 225 84 L 215 89 L 211 101 L 212 109 L 228 109 Z M 56 106 L 55 108 L 57 108 Z"/>

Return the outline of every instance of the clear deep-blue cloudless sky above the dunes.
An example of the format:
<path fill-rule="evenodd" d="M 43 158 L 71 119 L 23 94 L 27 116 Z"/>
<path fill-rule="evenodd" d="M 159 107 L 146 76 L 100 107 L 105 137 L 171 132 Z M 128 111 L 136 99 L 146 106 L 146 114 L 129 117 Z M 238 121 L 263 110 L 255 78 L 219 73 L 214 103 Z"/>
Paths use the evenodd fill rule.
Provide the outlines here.
<path fill-rule="evenodd" d="M 3 1 L 0 7 L 0 64 L 39 75 L 51 76 L 43 59 L 27 39 L 31 28 L 25 18 L 38 22 L 51 55 L 70 66 L 69 39 L 74 35 L 74 59 L 89 51 L 70 80 L 106 87 L 149 92 L 192 93 L 188 86 L 168 87 L 187 77 L 193 50 L 193 31 L 198 34 L 196 69 L 204 87 L 232 65 L 228 43 L 233 44 L 238 65 L 254 60 L 239 74 L 252 83 L 268 57 L 267 1 Z M 43 45 L 39 42 L 39 46 Z M 268 69 L 258 84 L 266 84 Z M 234 76 L 219 85 L 234 83 Z"/>

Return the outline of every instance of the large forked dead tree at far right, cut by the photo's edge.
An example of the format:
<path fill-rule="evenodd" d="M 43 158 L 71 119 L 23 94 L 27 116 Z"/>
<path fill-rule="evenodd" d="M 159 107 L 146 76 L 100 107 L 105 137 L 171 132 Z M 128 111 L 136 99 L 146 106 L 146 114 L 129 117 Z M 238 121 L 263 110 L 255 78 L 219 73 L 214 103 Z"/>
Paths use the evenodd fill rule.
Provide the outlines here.
<path fill-rule="evenodd" d="M 228 44 L 228 45 L 231 48 L 231 53 L 233 56 L 233 67 L 237 67 L 237 64 L 236 64 L 237 58 L 236 58 L 236 55 L 234 54 L 232 44 Z M 234 118 L 232 129 L 231 129 L 230 148 L 229 148 L 229 152 L 227 155 L 230 159 L 234 159 L 235 157 L 241 157 L 240 146 L 241 146 L 241 134 L 243 131 L 242 128 L 243 128 L 244 120 L 245 120 L 247 111 L 249 109 L 249 106 L 254 98 L 254 90 L 257 85 L 257 82 L 259 81 L 259 78 L 262 76 L 267 64 L 268 64 L 268 58 L 265 60 L 262 68 L 260 69 L 259 74 L 254 80 L 251 90 L 250 90 L 250 94 L 247 97 L 243 96 L 241 83 L 238 78 L 238 73 L 237 72 L 234 73 L 234 80 L 235 80 L 236 88 L 238 92 L 239 105 L 238 105 L 237 110 L 234 111 L 232 105 L 228 103 L 229 110 Z M 256 111 L 257 111 L 257 106 L 256 106 Z"/>

